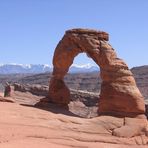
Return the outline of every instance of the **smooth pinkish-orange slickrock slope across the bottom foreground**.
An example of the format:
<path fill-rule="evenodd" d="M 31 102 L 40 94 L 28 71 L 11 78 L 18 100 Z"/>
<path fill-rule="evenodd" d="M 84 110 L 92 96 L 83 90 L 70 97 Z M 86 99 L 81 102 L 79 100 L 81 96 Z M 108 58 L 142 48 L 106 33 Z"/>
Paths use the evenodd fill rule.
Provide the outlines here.
<path fill-rule="evenodd" d="M 112 121 L 110 123 L 110 121 Z M 148 138 L 112 136 L 122 118 L 84 119 L 58 109 L 0 102 L 0 148 L 146 148 Z"/>

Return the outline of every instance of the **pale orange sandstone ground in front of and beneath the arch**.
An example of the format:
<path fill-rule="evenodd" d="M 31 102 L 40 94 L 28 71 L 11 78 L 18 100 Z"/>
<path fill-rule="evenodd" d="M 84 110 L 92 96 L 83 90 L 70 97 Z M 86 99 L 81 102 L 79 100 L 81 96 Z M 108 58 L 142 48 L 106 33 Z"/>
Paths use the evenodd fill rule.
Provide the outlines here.
<path fill-rule="evenodd" d="M 0 148 L 148 146 L 148 132 L 144 129 L 147 120 L 112 116 L 90 118 L 95 116 L 93 112 L 97 107 L 95 99 L 94 104 L 89 104 L 87 97 L 92 100 L 95 94 L 82 91 L 74 94 L 73 90 L 69 111 L 52 103 L 38 105 L 43 96 L 29 91 L 14 91 L 12 97 L 1 97 Z"/>

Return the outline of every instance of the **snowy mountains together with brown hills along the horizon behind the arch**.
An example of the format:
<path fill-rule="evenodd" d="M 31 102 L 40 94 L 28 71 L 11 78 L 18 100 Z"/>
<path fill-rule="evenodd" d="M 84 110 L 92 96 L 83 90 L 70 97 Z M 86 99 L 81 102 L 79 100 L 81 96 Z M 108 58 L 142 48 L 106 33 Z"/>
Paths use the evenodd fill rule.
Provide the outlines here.
<path fill-rule="evenodd" d="M 5 71 L 1 71 L 4 67 L 6 68 Z M 16 67 L 18 68 L 17 71 Z M 52 77 L 52 74 L 49 72 L 51 69 L 52 67 L 48 65 L 24 66 L 9 64 L 0 66 L 0 73 L 3 72 L 3 74 L 0 74 L 0 90 L 4 89 L 3 85 L 5 85 L 6 81 L 12 83 L 18 82 L 20 84 L 48 85 L 49 80 Z M 98 67 L 90 64 L 73 65 L 70 68 L 70 71 L 71 73 L 65 76 L 65 82 L 69 88 L 76 90 L 87 90 L 90 92 L 99 92 L 101 87 L 101 78 L 98 72 Z M 134 67 L 131 69 L 131 71 L 135 77 L 137 86 L 148 103 L 148 65 Z"/>

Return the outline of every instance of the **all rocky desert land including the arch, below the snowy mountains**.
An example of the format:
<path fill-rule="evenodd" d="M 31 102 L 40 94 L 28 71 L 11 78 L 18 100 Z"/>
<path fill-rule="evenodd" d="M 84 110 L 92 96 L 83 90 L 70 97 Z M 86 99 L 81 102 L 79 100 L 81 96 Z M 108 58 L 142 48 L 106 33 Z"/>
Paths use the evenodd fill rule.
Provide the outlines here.
<path fill-rule="evenodd" d="M 147 66 L 130 70 L 108 40 L 106 32 L 68 30 L 52 74 L 1 75 L 9 84 L 0 94 L 0 147 L 147 147 Z M 81 52 L 100 72 L 66 76 Z"/>

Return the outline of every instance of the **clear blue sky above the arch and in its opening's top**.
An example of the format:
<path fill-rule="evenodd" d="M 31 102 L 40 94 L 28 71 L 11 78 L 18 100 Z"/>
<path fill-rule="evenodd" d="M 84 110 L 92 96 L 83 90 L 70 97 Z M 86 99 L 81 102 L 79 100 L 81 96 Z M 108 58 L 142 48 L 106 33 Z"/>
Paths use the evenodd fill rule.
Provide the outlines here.
<path fill-rule="evenodd" d="M 147 15 L 148 0 L 0 0 L 0 63 L 51 64 L 65 30 L 82 27 L 108 32 L 129 67 L 148 65 Z"/>

